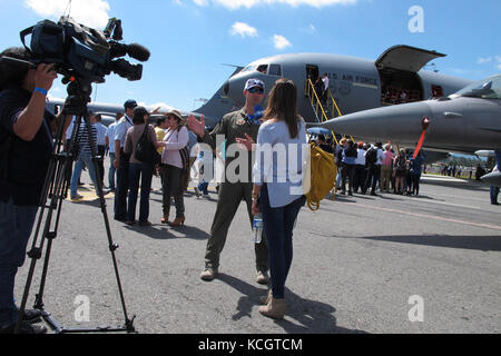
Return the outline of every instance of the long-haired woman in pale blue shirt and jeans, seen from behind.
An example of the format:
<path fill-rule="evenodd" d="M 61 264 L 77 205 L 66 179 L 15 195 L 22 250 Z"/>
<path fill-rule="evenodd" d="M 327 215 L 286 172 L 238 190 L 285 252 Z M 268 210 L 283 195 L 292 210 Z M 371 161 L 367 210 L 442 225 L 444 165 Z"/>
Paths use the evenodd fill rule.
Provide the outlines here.
<path fill-rule="evenodd" d="M 253 169 L 253 214 L 262 212 L 268 245 L 272 289 L 259 313 L 283 318 L 285 281 L 293 259 L 293 229 L 306 198 L 303 156 L 306 128 L 297 115 L 297 89 L 279 79 L 269 93 L 265 122 L 259 128 Z"/>

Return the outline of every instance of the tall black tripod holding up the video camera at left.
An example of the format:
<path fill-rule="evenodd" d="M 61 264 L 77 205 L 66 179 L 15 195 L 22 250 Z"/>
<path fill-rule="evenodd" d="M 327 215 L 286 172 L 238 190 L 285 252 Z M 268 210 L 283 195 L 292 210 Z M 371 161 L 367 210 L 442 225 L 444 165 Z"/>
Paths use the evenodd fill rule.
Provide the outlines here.
<path fill-rule="evenodd" d="M 69 79 L 63 79 L 63 82 L 69 82 Z M 35 268 L 37 260 L 42 257 L 42 250 L 46 246 L 46 255 L 42 268 L 42 275 L 40 279 L 39 293 L 36 295 L 35 300 L 35 309 L 38 309 L 42 314 L 43 320 L 49 325 L 49 327 L 56 334 L 69 334 L 69 333 L 136 333 L 134 328 L 134 318 L 129 319 L 127 315 L 127 307 L 124 298 L 124 290 L 121 287 L 120 275 L 118 271 L 117 259 L 115 256 L 115 251 L 118 248 L 118 245 L 114 243 L 111 237 L 111 231 L 109 227 L 108 215 L 106 210 L 106 199 L 102 192 L 102 180 L 101 174 L 98 169 L 99 157 L 97 156 L 97 145 L 92 137 L 91 125 L 90 125 L 90 116 L 87 109 L 87 103 L 90 102 L 90 93 L 91 93 L 91 82 L 86 80 L 78 80 L 72 78 L 72 81 L 68 85 L 68 99 L 65 102 L 65 107 L 62 109 L 62 119 L 60 120 L 60 125 L 57 132 L 56 144 L 52 150 L 52 155 L 49 161 L 49 167 L 46 175 L 46 180 L 43 184 L 42 195 L 40 199 L 40 208 L 38 215 L 38 221 L 36 226 L 36 231 L 32 240 L 31 249 L 28 251 L 28 257 L 31 258 L 30 269 L 28 273 L 27 283 L 24 286 L 24 293 L 22 296 L 21 306 L 19 309 L 18 323 L 16 325 L 14 333 L 19 333 L 22 318 L 24 316 L 24 310 L 29 297 L 29 291 L 35 274 Z M 62 146 L 62 135 L 65 130 L 65 121 L 66 116 L 71 115 L 75 116 L 75 125 L 71 134 L 71 140 L 69 147 L 67 147 L 66 151 L 63 151 Z M 52 249 L 53 240 L 58 236 L 58 227 L 59 220 L 61 217 L 62 202 L 68 195 L 69 181 L 72 171 L 72 161 L 77 152 L 77 146 L 79 145 L 79 135 L 80 135 L 80 125 L 85 123 L 87 128 L 87 134 L 89 138 L 89 145 L 91 149 L 91 159 L 92 165 L 96 171 L 96 185 L 97 191 L 99 196 L 100 209 L 102 212 L 102 217 L 105 220 L 106 233 L 108 237 L 109 250 L 111 253 L 111 259 L 115 269 L 115 277 L 117 279 L 118 291 L 120 296 L 121 307 L 125 317 L 125 325 L 122 327 L 96 327 L 96 328 L 65 328 L 60 323 L 52 318 L 50 313 L 47 313 L 43 309 L 43 291 L 47 280 L 47 273 L 49 267 L 50 253 Z M 47 212 L 47 216 L 46 216 Z M 45 224 L 42 226 L 42 221 L 45 219 Z M 41 233 L 41 239 L 38 241 Z"/>

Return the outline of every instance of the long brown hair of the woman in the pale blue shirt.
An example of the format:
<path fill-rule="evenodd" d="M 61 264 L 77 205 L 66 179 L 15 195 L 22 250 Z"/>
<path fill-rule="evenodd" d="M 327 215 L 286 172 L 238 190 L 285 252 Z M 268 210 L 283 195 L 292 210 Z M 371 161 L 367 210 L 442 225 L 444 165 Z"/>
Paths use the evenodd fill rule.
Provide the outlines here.
<path fill-rule="evenodd" d="M 265 120 L 277 119 L 285 121 L 291 138 L 299 135 L 297 122 L 297 88 L 294 81 L 282 78 L 275 82 L 269 92 L 268 107 L 265 111 Z"/>

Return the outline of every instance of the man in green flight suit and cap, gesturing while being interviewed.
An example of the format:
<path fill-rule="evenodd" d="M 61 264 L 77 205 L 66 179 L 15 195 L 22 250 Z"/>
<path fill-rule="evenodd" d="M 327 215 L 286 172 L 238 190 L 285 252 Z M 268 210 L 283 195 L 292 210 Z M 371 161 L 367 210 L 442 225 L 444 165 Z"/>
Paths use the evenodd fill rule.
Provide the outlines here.
<path fill-rule="evenodd" d="M 252 146 L 257 141 L 261 125 L 261 121 L 256 118 L 255 108 L 263 101 L 264 90 L 263 81 L 247 80 L 244 89 L 245 107 L 242 110 L 225 115 L 212 132 L 205 130 L 204 117 L 200 121 L 194 116 L 188 118 L 188 127 L 198 136 L 199 142 L 207 144 L 212 149 L 215 149 L 217 136 L 224 137 L 222 142 L 226 139 L 226 178 L 219 187 L 219 199 L 205 254 L 205 270 L 200 275 L 200 278 L 206 281 L 210 281 L 217 276 L 219 255 L 223 251 L 229 225 L 242 199 L 247 202 L 250 224 L 254 219 L 252 214 Z M 242 161 L 246 165 L 238 165 Z M 255 245 L 255 253 L 256 281 L 265 285 L 269 281 L 269 278 L 267 275 L 268 249 L 264 238 L 261 244 Z"/>

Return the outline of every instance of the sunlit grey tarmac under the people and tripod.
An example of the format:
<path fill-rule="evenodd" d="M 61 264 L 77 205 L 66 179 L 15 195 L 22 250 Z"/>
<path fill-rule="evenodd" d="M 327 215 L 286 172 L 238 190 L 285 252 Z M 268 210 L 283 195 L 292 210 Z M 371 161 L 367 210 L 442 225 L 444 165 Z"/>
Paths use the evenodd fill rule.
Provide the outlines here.
<path fill-rule="evenodd" d="M 90 181 L 87 174 L 82 180 Z M 107 199 L 138 333 L 501 333 L 501 207 L 490 205 L 481 184 L 425 176 L 420 197 L 336 196 L 320 211 L 303 208 L 281 322 L 257 310 L 266 286 L 255 283 L 245 204 L 230 226 L 219 277 L 206 283 L 199 274 L 217 195 L 212 188 L 209 199 L 198 199 L 188 191 L 186 226 L 170 228 L 160 224 L 159 187 L 154 178 L 151 227 L 114 220 Z M 18 274 L 18 300 L 29 261 Z M 41 267 L 42 260 L 29 306 Z M 124 325 L 98 201 L 65 201 L 43 296 L 65 327 Z"/>

